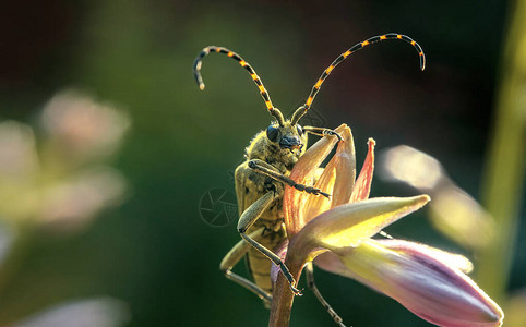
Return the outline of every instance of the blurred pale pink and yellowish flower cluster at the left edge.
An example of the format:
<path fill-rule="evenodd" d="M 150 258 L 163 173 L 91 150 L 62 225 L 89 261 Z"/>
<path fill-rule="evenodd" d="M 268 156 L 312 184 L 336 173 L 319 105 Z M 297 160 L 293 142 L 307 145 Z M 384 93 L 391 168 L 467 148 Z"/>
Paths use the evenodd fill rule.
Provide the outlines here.
<path fill-rule="evenodd" d="M 37 144 L 31 126 L 0 122 L 0 218 L 13 227 L 77 230 L 123 198 L 125 179 L 105 161 L 130 120 L 68 90 L 45 106 L 43 124 L 47 133 Z"/>

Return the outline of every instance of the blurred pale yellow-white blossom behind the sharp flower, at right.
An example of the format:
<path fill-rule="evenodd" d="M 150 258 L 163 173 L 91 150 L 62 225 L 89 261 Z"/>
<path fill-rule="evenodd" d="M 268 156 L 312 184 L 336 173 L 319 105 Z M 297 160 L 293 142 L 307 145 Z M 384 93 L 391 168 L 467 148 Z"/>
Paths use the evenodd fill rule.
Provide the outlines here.
<path fill-rule="evenodd" d="M 433 157 L 413 147 L 390 148 L 380 158 L 380 177 L 409 184 L 433 197 L 430 218 L 442 233 L 470 250 L 491 245 L 493 218 L 447 177 Z"/>

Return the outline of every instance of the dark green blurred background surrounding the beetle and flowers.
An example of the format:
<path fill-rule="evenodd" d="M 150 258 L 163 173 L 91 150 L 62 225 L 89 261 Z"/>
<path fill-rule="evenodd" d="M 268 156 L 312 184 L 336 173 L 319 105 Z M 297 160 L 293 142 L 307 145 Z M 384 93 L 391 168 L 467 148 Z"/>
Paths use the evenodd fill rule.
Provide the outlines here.
<path fill-rule="evenodd" d="M 0 278 L 3 326 L 71 299 L 108 295 L 130 310 L 125 326 L 265 326 L 268 311 L 218 270 L 239 240 L 235 222 L 212 227 L 200 201 L 234 193 L 243 148 L 271 117 L 246 71 L 225 56 L 192 62 L 208 45 L 249 61 L 284 113 L 308 96 L 340 52 L 395 32 L 404 43 L 375 45 L 347 60 L 324 84 L 314 109 L 325 126 L 347 123 L 358 162 L 408 144 L 438 158 L 480 198 L 492 137 L 506 1 L 21 1 L 0 13 L 0 120 L 37 126 L 45 104 L 64 88 L 127 112 L 131 128 L 112 165 L 129 192 L 81 232 L 35 233 Z M 38 132 L 37 140 L 38 140 Z M 414 190 L 375 180 L 372 196 Z M 503 198 L 502 201 L 506 201 Z M 524 208 L 522 209 L 524 213 Z M 426 210 L 387 231 L 469 255 L 434 231 Z M 524 249 L 526 230 L 518 231 Z M 471 257 L 473 258 L 473 257 Z M 246 274 L 244 265 L 236 267 Z M 0 271 L 1 272 L 1 271 Z M 526 286 L 526 253 L 513 259 L 509 290 Z M 351 280 L 316 272 L 321 291 L 354 326 L 428 326 L 395 301 Z M 292 326 L 333 326 L 312 293 L 297 299 Z"/>

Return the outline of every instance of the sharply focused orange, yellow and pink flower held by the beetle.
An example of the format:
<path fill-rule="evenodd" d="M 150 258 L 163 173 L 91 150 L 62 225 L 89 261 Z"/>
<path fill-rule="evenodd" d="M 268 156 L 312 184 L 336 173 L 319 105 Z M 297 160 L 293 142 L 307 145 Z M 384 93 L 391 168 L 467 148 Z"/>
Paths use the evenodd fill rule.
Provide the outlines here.
<path fill-rule="evenodd" d="M 371 239 L 390 223 L 419 209 L 429 196 L 368 198 L 374 170 L 374 141 L 355 181 L 350 129 L 336 129 L 344 142 L 315 187 L 332 194 L 313 197 L 287 187 L 285 225 L 289 237 L 285 264 L 296 280 L 314 264 L 384 293 L 421 318 L 442 326 L 500 326 L 500 307 L 466 276 L 471 263 L 461 255 L 401 240 Z M 309 184 L 336 143 L 324 137 L 296 164 L 290 178 Z M 275 269 L 275 268 L 274 268 Z M 271 326 L 287 326 L 294 295 L 278 276 Z"/>

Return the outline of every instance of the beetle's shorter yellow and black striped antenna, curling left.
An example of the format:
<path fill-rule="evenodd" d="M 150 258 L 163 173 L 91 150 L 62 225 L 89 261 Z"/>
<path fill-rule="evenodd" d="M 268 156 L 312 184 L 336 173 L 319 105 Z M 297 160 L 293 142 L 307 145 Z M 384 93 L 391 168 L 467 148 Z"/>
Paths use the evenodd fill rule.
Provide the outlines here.
<path fill-rule="evenodd" d="M 193 63 L 193 75 L 195 77 L 195 81 L 198 82 L 200 89 L 204 89 L 203 78 L 201 77 L 201 65 L 203 63 L 203 58 L 210 52 L 225 53 L 228 57 L 236 60 L 242 68 L 244 68 L 249 72 L 255 85 L 258 85 L 258 88 L 260 89 L 260 94 L 263 97 L 263 100 L 265 100 L 266 109 L 268 109 L 268 112 L 277 119 L 277 122 L 279 123 L 280 126 L 285 124 L 285 119 L 283 118 L 282 111 L 279 111 L 279 109 L 275 108 L 272 105 L 271 97 L 268 96 L 268 92 L 266 92 L 265 86 L 263 86 L 263 82 L 261 81 L 260 76 L 258 76 L 254 69 L 247 61 L 244 61 L 241 58 L 241 56 L 239 56 L 234 51 L 228 50 L 227 48 L 208 46 L 204 48 L 203 51 L 201 51 L 201 53 L 199 53 L 198 58 L 195 58 L 195 61 Z"/>

